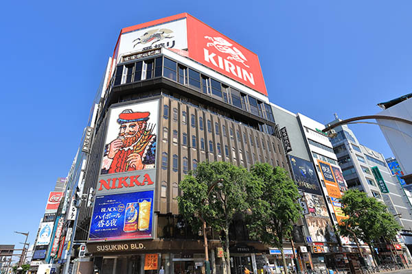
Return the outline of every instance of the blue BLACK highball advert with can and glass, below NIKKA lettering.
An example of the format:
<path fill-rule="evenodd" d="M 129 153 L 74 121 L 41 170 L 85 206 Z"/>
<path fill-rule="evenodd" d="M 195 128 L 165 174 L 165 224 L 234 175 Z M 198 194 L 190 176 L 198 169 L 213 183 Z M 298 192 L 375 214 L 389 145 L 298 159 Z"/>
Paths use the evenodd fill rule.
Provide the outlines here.
<path fill-rule="evenodd" d="M 98 196 L 89 240 L 152 238 L 153 190 Z"/>

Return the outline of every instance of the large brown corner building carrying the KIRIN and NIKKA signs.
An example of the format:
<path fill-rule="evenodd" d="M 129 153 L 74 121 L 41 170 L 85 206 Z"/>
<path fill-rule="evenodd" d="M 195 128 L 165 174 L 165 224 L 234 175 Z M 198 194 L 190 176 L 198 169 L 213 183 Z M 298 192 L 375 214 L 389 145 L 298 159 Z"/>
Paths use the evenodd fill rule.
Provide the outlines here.
<path fill-rule="evenodd" d="M 190 14 L 122 29 L 87 129 L 59 209 L 67 222 L 53 260 L 64 273 L 201 273 L 202 236 L 176 199 L 185 174 L 205 160 L 288 169 L 258 56 Z M 271 247 L 242 219 L 229 234 L 231 273 L 263 269 Z M 219 235 L 209 238 L 222 273 Z"/>

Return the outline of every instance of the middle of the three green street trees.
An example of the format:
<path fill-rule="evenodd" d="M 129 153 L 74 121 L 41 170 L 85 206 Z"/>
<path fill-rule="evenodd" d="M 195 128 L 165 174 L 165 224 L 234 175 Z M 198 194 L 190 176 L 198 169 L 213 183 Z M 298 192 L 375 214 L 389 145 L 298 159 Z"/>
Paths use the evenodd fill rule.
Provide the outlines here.
<path fill-rule="evenodd" d="M 283 242 L 290 238 L 293 225 L 301 216 L 301 206 L 297 202 L 299 191 L 285 169 L 269 164 L 255 164 L 251 168 L 252 175 L 260 179 L 260 195 L 253 197 L 249 204 L 249 233 L 267 245 L 274 245 L 282 253 L 285 273 L 288 273 Z M 257 190 L 248 191 L 258 195 Z"/>

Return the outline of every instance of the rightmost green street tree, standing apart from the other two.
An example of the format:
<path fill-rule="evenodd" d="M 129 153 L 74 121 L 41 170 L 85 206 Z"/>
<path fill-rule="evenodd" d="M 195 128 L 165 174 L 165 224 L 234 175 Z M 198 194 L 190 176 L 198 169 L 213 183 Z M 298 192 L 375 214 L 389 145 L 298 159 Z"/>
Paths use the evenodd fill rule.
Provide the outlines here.
<path fill-rule="evenodd" d="M 339 234 L 356 242 L 362 240 L 372 253 L 373 242 L 381 237 L 392 239 L 402 229 L 393 215 L 387 212 L 387 206 L 373 197 L 367 197 L 365 192 L 347 190 L 341 197 L 341 203 L 347 219 L 338 225 Z M 372 257 L 378 265 L 375 257 Z"/>

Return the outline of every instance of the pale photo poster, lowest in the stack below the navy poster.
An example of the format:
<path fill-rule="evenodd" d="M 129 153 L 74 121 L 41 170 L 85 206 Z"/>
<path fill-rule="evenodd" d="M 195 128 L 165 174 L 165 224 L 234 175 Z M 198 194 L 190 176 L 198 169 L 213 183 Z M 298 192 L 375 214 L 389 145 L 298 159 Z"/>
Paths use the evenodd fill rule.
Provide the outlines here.
<path fill-rule="evenodd" d="M 333 232 L 330 219 L 306 216 L 306 223 L 313 242 L 336 242 L 336 235 Z"/>

